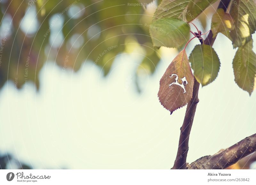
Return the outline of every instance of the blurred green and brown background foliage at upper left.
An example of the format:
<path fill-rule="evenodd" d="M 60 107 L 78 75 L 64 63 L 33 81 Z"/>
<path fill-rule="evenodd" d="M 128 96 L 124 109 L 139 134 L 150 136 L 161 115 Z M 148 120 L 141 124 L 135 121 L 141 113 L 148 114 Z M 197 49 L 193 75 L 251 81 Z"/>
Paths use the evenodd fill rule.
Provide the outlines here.
<path fill-rule="evenodd" d="M 16 88 L 32 82 L 46 61 L 73 71 L 95 63 L 106 76 L 115 56 L 140 45 L 145 58 L 138 70 L 152 74 L 159 63 L 148 26 L 157 4 L 151 0 L 23 0 L 1 1 L 0 88 L 12 80 Z M 33 14 L 34 11 L 34 14 Z M 31 13 L 32 12 L 32 13 Z M 1 48 L 2 47 L 2 48 Z"/>

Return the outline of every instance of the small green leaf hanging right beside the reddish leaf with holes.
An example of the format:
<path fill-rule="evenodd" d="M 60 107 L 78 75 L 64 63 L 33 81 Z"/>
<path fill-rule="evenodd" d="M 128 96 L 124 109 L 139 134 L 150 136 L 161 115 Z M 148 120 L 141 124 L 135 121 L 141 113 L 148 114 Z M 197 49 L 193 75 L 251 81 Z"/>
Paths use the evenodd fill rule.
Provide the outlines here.
<path fill-rule="evenodd" d="M 210 45 L 196 45 L 189 56 L 189 62 L 196 80 L 202 86 L 210 84 L 218 76 L 220 60 Z"/>

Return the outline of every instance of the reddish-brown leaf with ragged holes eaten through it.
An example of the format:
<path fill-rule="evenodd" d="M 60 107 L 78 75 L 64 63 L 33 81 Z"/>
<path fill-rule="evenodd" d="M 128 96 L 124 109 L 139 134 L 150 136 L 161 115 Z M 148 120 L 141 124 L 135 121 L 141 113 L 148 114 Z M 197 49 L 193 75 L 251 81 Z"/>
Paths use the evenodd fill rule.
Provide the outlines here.
<path fill-rule="evenodd" d="M 185 106 L 192 98 L 194 77 L 188 56 L 182 50 L 166 69 L 160 80 L 158 97 L 160 103 L 171 113 Z"/>

